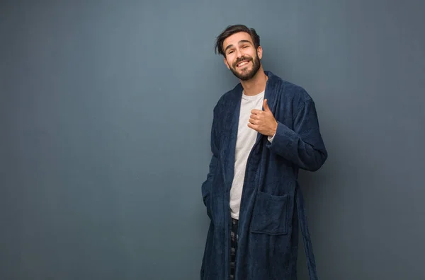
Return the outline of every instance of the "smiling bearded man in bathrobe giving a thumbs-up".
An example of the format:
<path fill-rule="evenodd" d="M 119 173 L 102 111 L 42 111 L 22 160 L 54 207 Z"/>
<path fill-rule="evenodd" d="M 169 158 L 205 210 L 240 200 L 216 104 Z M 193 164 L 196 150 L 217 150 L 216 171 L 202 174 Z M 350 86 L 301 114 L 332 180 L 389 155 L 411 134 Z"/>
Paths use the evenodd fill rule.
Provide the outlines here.
<path fill-rule="evenodd" d="M 254 29 L 227 27 L 216 51 L 240 83 L 214 108 L 202 185 L 210 228 L 201 279 L 296 279 L 298 221 L 310 279 L 317 279 L 297 183 L 299 168 L 315 171 L 327 159 L 314 102 L 263 70 Z"/>

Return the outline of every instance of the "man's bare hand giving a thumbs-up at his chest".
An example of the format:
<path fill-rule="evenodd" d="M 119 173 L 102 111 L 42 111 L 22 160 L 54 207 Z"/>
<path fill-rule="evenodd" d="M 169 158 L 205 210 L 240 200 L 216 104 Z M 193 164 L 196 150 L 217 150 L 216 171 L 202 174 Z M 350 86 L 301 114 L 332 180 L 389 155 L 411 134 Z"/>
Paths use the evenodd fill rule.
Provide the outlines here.
<path fill-rule="evenodd" d="M 263 107 L 263 111 L 256 109 L 251 110 L 248 127 L 251 127 L 251 129 L 263 135 L 273 136 L 276 133 L 276 129 L 278 129 L 278 122 L 276 122 L 273 113 L 267 105 L 267 99 L 264 99 Z"/>

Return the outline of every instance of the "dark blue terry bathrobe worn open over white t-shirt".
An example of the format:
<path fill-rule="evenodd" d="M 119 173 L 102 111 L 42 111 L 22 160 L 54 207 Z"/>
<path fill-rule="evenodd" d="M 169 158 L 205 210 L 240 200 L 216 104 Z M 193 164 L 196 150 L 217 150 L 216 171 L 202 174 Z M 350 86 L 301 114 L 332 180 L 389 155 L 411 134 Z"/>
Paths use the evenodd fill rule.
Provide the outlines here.
<path fill-rule="evenodd" d="M 236 280 L 296 279 L 298 223 L 305 244 L 310 279 L 317 279 L 305 207 L 297 182 L 299 168 L 315 171 L 327 159 L 310 95 L 266 71 L 264 98 L 278 121 L 270 143 L 258 134 L 246 163 L 239 213 Z M 242 86 L 222 95 L 214 108 L 212 158 L 202 185 L 210 217 L 200 279 L 228 280 L 231 217 L 229 191 Z"/>

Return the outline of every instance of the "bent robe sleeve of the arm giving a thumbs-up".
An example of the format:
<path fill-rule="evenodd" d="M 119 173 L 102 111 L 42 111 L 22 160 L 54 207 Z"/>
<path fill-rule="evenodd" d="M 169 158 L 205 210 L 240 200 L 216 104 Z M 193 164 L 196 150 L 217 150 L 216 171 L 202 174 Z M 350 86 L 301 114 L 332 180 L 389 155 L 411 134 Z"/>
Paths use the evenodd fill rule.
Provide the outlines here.
<path fill-rule="evenodd" d="M 278 122 L 273 141 L 266 146 L 299 168 L 317 171 L 327 160 L 327 150 L 319 131 L 319 121 L 312 99 L 300 106 L 293 129 Z"/>

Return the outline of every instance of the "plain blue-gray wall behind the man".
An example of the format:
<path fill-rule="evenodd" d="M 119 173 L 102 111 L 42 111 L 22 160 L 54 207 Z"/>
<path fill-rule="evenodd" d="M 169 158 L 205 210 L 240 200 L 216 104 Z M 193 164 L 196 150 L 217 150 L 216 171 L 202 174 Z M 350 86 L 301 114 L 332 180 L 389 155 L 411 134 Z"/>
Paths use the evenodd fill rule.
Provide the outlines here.
<path fill-rule="evenodd" d="M 199 279 L 234 23 L 316 102 L 320 279 L 425 278 L 423 1 L 38 2 L 0 4 L 0 279 Z"/>

